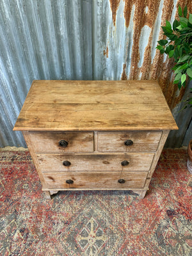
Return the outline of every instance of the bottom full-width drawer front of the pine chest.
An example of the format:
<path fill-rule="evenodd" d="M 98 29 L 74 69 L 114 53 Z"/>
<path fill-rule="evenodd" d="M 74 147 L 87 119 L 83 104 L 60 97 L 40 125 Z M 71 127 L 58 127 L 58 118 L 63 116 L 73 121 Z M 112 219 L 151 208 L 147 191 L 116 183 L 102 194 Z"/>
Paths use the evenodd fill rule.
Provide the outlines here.
<path fill-rule="evenodd" d="M 146 172 L 128 173 L 44 173 L 49 189 L 143 188 Z"/>

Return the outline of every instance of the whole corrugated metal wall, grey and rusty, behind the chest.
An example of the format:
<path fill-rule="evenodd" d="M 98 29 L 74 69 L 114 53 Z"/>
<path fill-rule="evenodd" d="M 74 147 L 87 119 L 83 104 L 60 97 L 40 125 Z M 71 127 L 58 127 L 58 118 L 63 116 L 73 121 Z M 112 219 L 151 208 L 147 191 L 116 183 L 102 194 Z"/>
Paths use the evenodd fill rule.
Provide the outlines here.
<path fill-rule="evenodd" d="M 170 108 L 172 60 L 156 51 L 165 20 L 191 0 L 1 0 L 0 146 L 13 132 L 33 79 L 158 79 Z"/>

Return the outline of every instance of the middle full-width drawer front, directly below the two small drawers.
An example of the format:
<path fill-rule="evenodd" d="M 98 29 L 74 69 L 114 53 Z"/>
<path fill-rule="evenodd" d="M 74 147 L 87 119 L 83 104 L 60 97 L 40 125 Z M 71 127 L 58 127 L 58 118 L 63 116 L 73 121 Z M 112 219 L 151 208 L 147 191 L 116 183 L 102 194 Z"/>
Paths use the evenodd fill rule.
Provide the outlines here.
<path fill-rule="evenodd" d="M 148 172 L 154 154 L 38 154 L 42 172 Z"/>

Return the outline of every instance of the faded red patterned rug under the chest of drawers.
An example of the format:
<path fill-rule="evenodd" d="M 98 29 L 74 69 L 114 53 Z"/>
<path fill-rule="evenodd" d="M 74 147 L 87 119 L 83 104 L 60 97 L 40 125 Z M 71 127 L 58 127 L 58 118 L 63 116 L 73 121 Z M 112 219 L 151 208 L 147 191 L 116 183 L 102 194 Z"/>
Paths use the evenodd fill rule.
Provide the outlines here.
<path fill-rule="evenodd" d="M 163 150 L 143 200 L 128 191 L 45 200 L 28 151 L 0 152 L 0 255 L 192 255 L 186 150 Z"/>

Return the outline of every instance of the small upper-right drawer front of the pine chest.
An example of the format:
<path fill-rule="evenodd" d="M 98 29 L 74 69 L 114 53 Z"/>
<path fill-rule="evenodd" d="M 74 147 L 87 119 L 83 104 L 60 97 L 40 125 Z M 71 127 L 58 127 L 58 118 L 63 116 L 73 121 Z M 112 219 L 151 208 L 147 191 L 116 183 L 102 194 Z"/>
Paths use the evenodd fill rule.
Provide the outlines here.
<path fill-rule="evenodd" d="M 100 152 L 155 152 L 161 131 L 99 132 Z"/>

